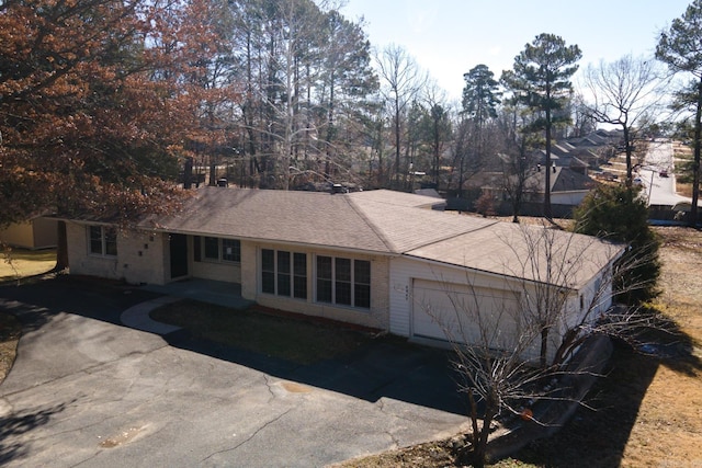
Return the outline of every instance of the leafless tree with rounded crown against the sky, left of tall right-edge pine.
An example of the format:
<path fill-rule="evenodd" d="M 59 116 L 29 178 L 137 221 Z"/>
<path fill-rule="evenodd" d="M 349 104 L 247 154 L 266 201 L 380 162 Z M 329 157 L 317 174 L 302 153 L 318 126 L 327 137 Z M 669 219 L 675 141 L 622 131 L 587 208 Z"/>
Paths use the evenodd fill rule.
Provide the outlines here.
<path fill-rule="evenodd" d="M 599 123 L 622 128 L 626 152 L 626 184 L 632 185 L 634 142 L 658 114 L 664 88 L 658 64 L 653 59 L 626 55 L 613 62 L 588 66 L 584 85 L 591 103 L 589 114 Z"/>

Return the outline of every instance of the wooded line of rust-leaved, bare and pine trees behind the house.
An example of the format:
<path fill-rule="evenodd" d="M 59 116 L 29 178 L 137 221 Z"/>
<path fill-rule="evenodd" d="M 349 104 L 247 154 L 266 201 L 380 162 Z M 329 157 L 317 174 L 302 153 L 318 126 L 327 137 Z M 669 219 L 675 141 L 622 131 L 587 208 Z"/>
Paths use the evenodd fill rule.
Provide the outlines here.
<path fill-rule="evenodd" d="M 697 76 L 700 54 L 680 49 L 699 42 L 700 1 L 690 9 L 658 57 Z M 660 102 L 659 70 L 634 57 L 590 66 L 579 92 L 578 46 L 540 34 L 501 77 L 469 69 L 455 104 L 405 49 L 373 49 L 362 21 L 312 0 L 2 0 L 0 55 L 1 222 L 169 208 L 186 160 L 195 183 L 226 168 L 241 186 L 421 182 L 457 196 L 497 170 L 517 213 L 553 141 L 598 122 L 624 130 L 631 182 Z"/>

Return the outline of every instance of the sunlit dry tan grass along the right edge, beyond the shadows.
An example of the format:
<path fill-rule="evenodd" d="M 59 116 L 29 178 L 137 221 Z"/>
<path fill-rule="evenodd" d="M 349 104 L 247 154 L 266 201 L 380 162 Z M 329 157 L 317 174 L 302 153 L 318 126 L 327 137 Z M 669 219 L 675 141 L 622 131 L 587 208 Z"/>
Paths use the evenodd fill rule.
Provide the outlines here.
<path fill-rule="evenodd" d="M 642 401 L 623 466 L 702 466 L 702 232 L 656 228 L 664 243 L 656 306 L 680 327 L 688 362 L 664 361 Z"/>

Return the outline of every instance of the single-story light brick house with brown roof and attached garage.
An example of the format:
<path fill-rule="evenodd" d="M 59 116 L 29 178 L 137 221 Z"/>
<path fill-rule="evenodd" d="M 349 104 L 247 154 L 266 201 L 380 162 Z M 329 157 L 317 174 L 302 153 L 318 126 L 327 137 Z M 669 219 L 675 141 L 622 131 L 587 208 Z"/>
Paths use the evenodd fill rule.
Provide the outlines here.
<path fill-rule="evenodd" d="M 445 341 L 446 327 L 457 323 L 448 292 L 497 316 L 521 307 L 551 277 L 567 298 L 569 323 L 593 300 L 598 311 L 611 305 L 611 294 L 602 298 L 596 290 L 611 274 L 621 246 L 548 229 L 554 258 L 568 272 L 548 276 L 545 261 L 541 266 L 525 261 L 535 252 L 530 239 L 543 228 L 448 213 L 442 206 L 434 197 L 384 190 L 202 187 L 180 214 L 129 229 L 67 220 L 70 273 L 133 284 L 228 282 L 237 285 L 233 294 L 240 287 L 244 298 L 265 307 L 416 340 Z M 518 324 L 500 327 L 509 333 Z M 558 341 L 554 333 L 551 352 Z"/>

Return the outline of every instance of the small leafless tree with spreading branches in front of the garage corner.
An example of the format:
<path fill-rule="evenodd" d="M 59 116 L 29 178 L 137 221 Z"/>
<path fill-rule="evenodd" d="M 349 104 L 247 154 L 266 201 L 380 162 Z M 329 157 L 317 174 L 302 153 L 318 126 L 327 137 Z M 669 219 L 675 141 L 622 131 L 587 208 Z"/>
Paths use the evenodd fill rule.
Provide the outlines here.
<path fill-rule="evenodd" d="M 597 377 L 604 364 L 590 354 L 590 339 L 634 342 L 637 330 L 656 326 L 638 310 L 611 307 L 615 278 L 631 267 L 614 266 L 623 246 L 545 226 L 505 225 L 499 237 L 499 286 L 492 282 L 486 289 L 482 274 L 468 271 L 460 286 L 442 278 L 450 306 L 415 298 L 452 344 L 469 404 L 465 455 L 473 466 L 489 456 L 496 419 L 547 429 L 565 421 L 540 402 L 585 404 L 582 380 Z M 500 294 L 486 293 L 495 288 Z"/>

